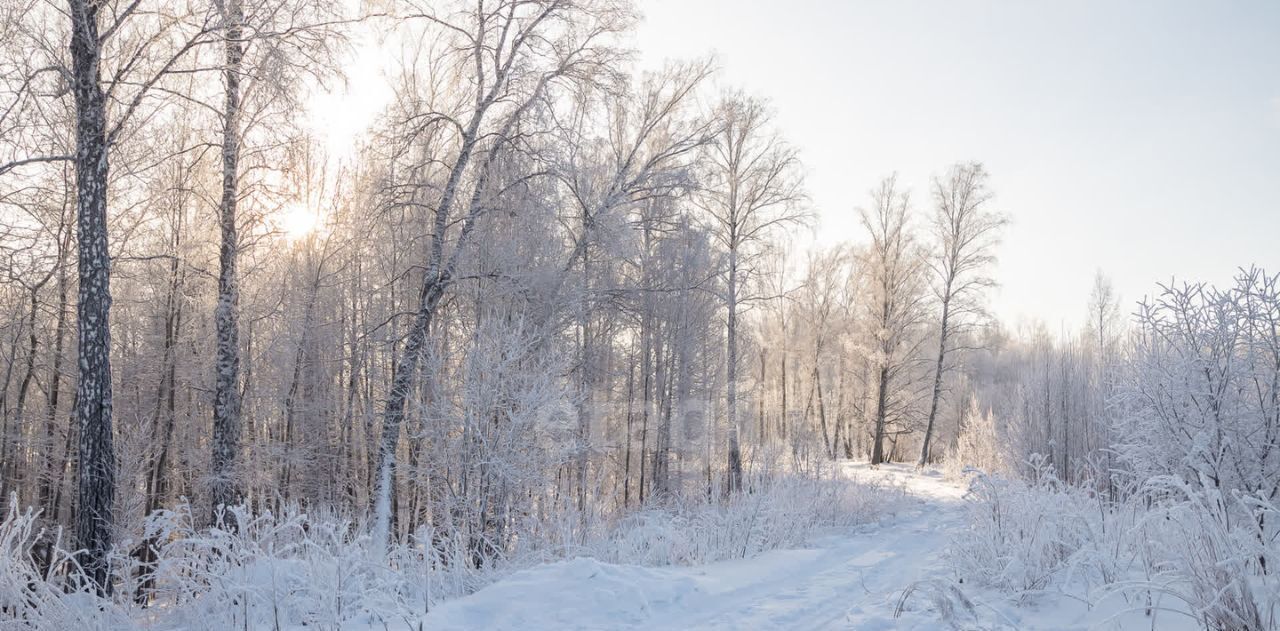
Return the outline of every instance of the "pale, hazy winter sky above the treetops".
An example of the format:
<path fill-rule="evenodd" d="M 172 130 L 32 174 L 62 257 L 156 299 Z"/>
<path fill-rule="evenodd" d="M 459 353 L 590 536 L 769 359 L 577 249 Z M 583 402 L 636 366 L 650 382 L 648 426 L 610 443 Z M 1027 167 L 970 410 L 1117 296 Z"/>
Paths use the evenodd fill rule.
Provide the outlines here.
<path fill-rule="evenodd" d="M 1280 1 L 640 8 L 645 67 L 714 54 L 724 86 L 772 101 L 822 243 L 864 241 L 854 207 L 883 175 L 899 172 L 925 211 L 931 177 L 984 163 L 1014 221 L 993 297 L 1010 326 L 1074 330 L 1098 269 L 1130 302 L 1174 275 L 1280 270 Z M 321 104 L 338 138 L 385 93 L 380 61 L 361 61 Z"/>

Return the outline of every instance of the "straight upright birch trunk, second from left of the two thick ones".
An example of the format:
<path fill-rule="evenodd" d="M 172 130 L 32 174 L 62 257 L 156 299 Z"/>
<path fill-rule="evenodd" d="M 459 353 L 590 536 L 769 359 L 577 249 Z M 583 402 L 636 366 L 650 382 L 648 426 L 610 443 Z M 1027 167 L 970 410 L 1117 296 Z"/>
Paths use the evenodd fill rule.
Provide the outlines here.
<path fill-rule="evenodd" d="M 220 210 L 221 250 L 218 261 L 218 306 L 214 323 L 218 329 L 218 351 L 214 360 L 214 436 L 210 497 L 212 520 L 221 507 L 239 502 L 236 480 L 236 458 L 241 439 L 239 390 L 239 288 L 236 264 L 239 250 L 236 206 L 239 198 L 239 145 L 241 145 L 241 60 L 244 55 L 241 41 L 244 13 L 241 0 L 227 0 L 223 6 L 225 32 L 223 68 L 223 198 Z M 230 520 L 229 516 L 227 516 Z M 234 523 L 228 523 L 234 527 Z"/>

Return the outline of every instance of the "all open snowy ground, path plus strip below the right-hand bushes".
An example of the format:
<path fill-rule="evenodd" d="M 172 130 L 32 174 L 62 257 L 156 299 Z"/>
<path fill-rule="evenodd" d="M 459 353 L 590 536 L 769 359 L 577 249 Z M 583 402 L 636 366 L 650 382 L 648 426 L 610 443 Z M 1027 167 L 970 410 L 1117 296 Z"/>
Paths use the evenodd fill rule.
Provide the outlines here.
<path fill-rule="evenodd" d="M 1120 602 L 1093 607 L 1056 594 L 1011 599 L 963 582 L 945 550 L 965 529 L 964 488 L 936 471 L 847 465 L 899 484 L 908 508 L 805 549 L 698 567 L 576 558 L 517 572 L 444 603 L 422 622 L 443 630 L 1124 630 L 1152 626 Z M 1132 611 L 1130 611 L 1132 609 Z M 1172 625 L 1172 626 L 1170 626 Z"/>

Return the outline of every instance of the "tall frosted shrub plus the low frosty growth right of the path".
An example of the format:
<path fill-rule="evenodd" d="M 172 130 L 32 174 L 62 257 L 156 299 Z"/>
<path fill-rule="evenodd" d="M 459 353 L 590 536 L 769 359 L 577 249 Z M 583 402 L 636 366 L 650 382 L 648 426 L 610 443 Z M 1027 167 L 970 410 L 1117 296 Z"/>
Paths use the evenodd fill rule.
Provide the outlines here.
<path fill-rule="evenodd" d="M 1020 479 L 978 475 L 952 563 L 1018 594 L 1120 594 L 1210 630 L 1275 628 L 1280 275 L 1166 287 L 1137 324 L 1106 402 L 1110 447 L 1071 486 L 1044 459 L 1007 471 Z"/>

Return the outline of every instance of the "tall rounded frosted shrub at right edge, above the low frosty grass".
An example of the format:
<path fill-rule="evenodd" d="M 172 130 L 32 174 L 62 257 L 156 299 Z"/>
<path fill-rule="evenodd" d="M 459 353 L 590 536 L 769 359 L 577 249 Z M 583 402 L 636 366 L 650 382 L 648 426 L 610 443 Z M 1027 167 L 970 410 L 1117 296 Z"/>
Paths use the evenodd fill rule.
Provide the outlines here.
<path fill-rule="evenodd" d="M 1280 494 L 1280 275 L 1166 287 L 1138 325 L 1116 402 L 1117 451 L 1134 477 Z"/>

